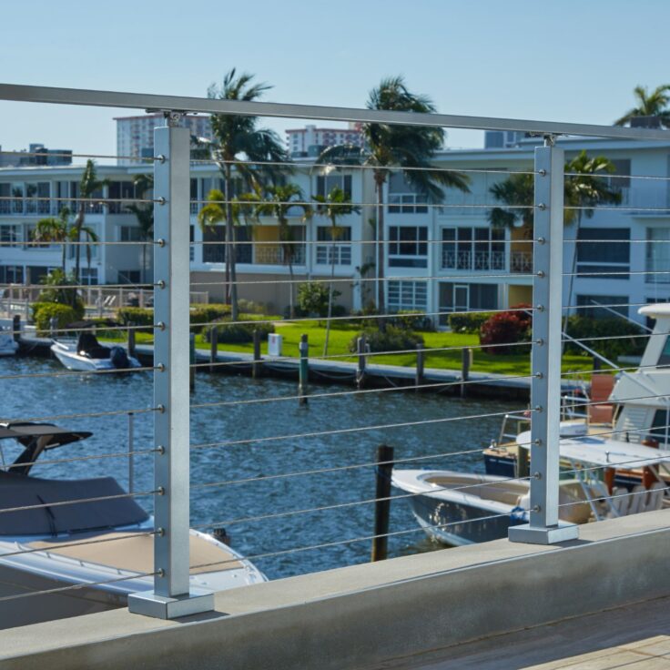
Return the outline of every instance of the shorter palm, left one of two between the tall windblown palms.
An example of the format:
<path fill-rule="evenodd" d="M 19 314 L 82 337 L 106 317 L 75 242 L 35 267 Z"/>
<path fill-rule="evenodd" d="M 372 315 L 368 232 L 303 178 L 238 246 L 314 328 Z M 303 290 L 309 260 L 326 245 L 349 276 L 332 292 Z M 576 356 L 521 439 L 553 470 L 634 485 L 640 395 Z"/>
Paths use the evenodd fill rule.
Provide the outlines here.
<path fill-rule="evenodd" d="M 282 262 L 289 266 L 289 316 L 293 319 L 295 318 L 293 260 L 296 253 L 296 240 L 293 239 L 293 228 L 289 225 L 289 210 L 291 208 L 301 209 L 302 221 L 311 218 L 313 210 L 308 203 L 304 202 L 302 189 L 297 184 L 269 186 L 265 188 L 265 192 L 257 189 L 254 193 L 246 194 L 240 199 L 255 203 L 256 218 L 274 217 L 279 223 L 279 247 Z"/>

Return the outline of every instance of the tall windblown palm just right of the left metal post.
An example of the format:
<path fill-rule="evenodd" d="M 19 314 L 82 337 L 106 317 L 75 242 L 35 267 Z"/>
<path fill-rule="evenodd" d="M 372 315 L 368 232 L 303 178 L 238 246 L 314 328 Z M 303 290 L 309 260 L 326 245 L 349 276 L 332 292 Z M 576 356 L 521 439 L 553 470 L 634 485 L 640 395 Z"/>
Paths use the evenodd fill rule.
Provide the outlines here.
<path fill-rule="evenodd" d="M 237 75 L 233 67 L 223 78 L 222 86 L 212 84 L 208 97 L 218 100 L 257 100 L 271 86 L 252 84 L 253 75 Z M 210 117 L 214 140 L 208 142 L 209 156 L 216 162 L 223 176 L 226 221 L 226 292 L 231 305 L 232 320 L 238 319 L 238 284 L 235 269 L 235 228 L 232 211 L 234 198 L 232 167 L 242 178 L 248 190 L 262 185 L 266 180 L 274 181 L 281 170 L 264 163 L 286 163 L 289 154 L 282 146 L 274 130 L 258 127 L 257 117 L 238 117 L 228 114 L 213 114 Z M 200 140 L 203 143 L 203 140 Z M 284 170 L 286 171 L 286 170 Z"/>

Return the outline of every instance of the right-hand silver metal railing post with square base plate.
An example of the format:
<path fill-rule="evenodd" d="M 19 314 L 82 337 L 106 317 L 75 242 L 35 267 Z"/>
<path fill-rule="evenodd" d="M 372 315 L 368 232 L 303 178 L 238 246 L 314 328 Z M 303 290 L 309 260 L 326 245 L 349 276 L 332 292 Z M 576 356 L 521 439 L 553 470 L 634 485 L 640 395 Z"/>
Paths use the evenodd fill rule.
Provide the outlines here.
<path fill-rule="evenodd" d="M 530 523 L 510 528 L 509 538 L 513 542 L 553 544 L 578 536 L 576 525 L 560 522 L 558 518 L 563 165 L 563 149 L 553 147 L 551 137 L 544 147 L 535 149 L 531 508 Z"/>

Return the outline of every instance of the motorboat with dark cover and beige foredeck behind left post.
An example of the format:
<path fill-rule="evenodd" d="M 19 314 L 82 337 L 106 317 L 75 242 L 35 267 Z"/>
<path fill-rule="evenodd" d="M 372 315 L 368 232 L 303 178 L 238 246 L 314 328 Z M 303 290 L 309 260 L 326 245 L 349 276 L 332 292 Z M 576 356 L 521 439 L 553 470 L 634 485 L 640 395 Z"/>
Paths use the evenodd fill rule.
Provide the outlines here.
<path fill-rule="evenodd" d="M 0 628 L 123 607 L 128 594 L 153 588 L 153 577 L 146 576 L 154 569 L 153 519 L 114 478 L 29 474 L 45 450 L 90 434 L 45 423 L 0 424 L 2 462 L 9 451 L 5 441 L 22 448 L 0 470 Z M 194 530 L 190 560 L 209 565 L 192 570 L 193 587 L 219 591 L 267 581 L 228 545 Z M 73 585 L 78 587 L 64 588 Z M 61 590 L 36 593 L 53 589 Z"/>

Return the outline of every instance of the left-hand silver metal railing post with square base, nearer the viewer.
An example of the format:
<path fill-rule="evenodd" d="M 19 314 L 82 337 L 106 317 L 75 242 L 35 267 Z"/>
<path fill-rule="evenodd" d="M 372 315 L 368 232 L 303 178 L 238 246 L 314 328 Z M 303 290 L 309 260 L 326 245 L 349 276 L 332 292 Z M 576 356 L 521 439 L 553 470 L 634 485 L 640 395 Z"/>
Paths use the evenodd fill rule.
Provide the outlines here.
<path fill-rule="evenodd" d="M 154 356 L 164 366 L 154 376 L 155 460 L 154 590 L 131 594 L 136 614 L 172 619 L 214 608 L 210 592 L 189 589 L 188 198 L 189 144 L 180 115 L 155 131 Z M 164 199 L 163 199 L 164 198 Z M 158 326 L 158 324 L 161 324 Z"/>

